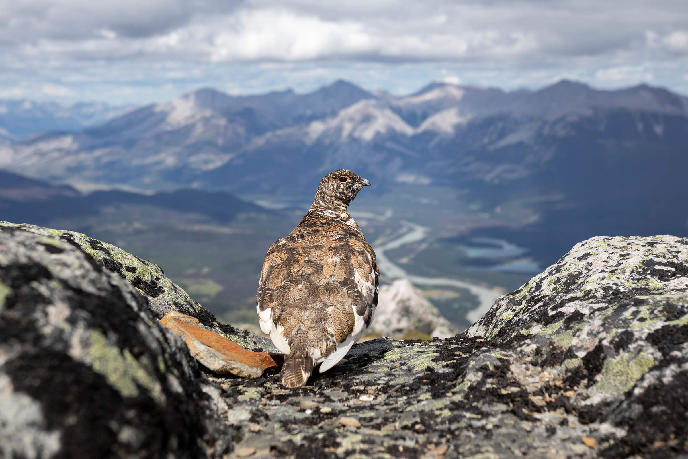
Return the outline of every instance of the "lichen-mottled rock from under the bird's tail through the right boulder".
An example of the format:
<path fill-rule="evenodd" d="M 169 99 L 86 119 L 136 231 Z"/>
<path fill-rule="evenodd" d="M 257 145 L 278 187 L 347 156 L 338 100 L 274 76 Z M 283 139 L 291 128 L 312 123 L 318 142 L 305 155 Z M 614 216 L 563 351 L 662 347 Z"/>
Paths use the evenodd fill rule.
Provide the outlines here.
<path fill-rule="evenodd" d="M 595 237 L 468 332 L 355 345 L 307 387 L 215 381 L 259 457 L 687 457 L 688 239 Z"/>

